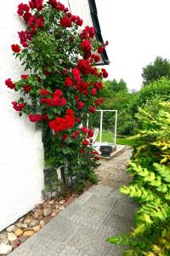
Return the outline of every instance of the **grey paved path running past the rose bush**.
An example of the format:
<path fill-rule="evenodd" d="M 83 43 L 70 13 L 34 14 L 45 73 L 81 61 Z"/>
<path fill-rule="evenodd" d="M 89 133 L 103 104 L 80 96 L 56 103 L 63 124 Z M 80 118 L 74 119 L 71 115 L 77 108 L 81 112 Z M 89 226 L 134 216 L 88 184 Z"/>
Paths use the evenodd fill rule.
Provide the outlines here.
<path fill-rule="evenodd" d="M 133 225 L 135 206 L 113 187 L 113 183 L 127 180 L 125 162 L 131 154 L 126 150 L 110 164 L 105 162 L 99 167 L 101 183 L 94 185 L 76 201 L 52 219 L 42 230 L 31 236 L 10 256 L 121 256 L 122 247 L 106 241 L 108 237 L 122 234 Z M 119 163 L 119 166 L 117 166 Z M 116 175 L 109 175 L 111 184 L 104 175 L 103 166 L 112 168 Z M 115 167 L 114 167 L 115 166 Z M 122 167 L 121 167 L 122 166 Z M 124 171 L 123 171 L 124 170 Z M 122 172 L 121 177 L 119 172 Z M 110 173 L 111 174 L 111 173 Z M 105 179 L 106 177 L 106 179 Z M 115 178 L 115 181 L 114 181 Z M 117 185 L 117 183 L 116 183 Z"/>

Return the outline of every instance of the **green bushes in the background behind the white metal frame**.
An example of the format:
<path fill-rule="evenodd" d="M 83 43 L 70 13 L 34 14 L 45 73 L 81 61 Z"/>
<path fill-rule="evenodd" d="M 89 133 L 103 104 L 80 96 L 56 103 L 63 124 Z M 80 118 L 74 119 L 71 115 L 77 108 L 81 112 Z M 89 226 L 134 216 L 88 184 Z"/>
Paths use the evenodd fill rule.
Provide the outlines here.
<path fill-rule="evenodd" d="M 116 87 L 117 86 L 117 87 Z M 133 102 L 136 93 L 127 91 L 126 83 L 121 79 L 119 82 L 116 79 L 105 82 L 105 88 L 102 91 L 102 96 L 105 97 L 105 102 L 102 109 L 116 109 L 118 110 L 117 131 L 122 135 L 133 134 L 133 127 L 135 126 L 134 119 L 128 108 L 129 103 Z M 115 113 L 105 112 L 103 116 L 104 129 L 112 131 L 114 129 Z M 99 113 L 91 116 L 89 123 L 95 127 L 99 127 Z"/>

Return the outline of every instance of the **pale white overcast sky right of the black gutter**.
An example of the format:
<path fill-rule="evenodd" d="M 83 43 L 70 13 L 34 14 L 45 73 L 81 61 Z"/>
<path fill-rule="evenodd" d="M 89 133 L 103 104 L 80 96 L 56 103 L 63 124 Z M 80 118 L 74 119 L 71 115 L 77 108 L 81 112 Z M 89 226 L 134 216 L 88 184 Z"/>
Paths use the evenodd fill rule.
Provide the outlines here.
<path fill-rule="evenodd" d="M 96 0 L 109 79 L 139 90 L 142 67 L 157 55 L 170 59 L 170 0 Z"/>

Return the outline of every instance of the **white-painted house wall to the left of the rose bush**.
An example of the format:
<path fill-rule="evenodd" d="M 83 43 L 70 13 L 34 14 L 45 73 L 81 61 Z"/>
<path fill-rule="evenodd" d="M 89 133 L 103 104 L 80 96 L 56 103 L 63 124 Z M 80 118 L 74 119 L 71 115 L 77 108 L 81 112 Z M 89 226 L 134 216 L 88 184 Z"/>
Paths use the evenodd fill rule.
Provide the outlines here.
<path fill-rule="evenodd" d="M 17 32 L 25 30 L 16 14 L 19 3 L 19 0 L 1 3 L 0 230 L 40 202 L 43 189 L 41 132 L 36 131 L 27 117 L 20 118 L 14 111 L 11 102 L 17 95 L 4 85 L 5 79 L 17 80 L 24 73 L 10 49 L 11 44 L 20 43 Z"/>

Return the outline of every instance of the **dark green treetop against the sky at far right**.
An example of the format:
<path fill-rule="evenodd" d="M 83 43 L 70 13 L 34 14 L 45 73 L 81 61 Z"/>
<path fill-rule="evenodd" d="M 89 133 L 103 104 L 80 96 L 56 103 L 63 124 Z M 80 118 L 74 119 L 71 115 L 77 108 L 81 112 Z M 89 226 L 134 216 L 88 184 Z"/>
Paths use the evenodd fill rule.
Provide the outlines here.
<path fill-rule="evenodd" d="M 167 59 L 157 56 L 154 63 L 150 63 L 143 68 L 143 85 L 146 86 L 162 77 L 170 79 L 170 62 Z"/>

